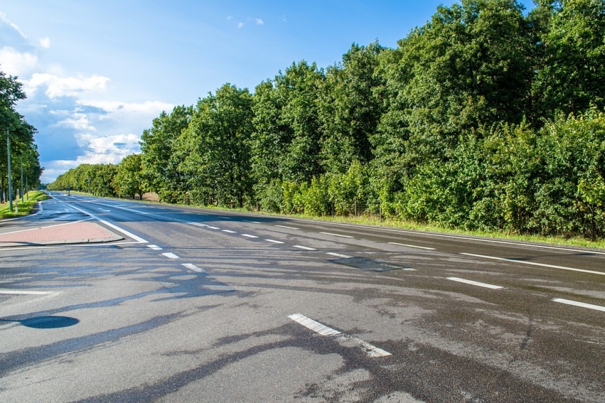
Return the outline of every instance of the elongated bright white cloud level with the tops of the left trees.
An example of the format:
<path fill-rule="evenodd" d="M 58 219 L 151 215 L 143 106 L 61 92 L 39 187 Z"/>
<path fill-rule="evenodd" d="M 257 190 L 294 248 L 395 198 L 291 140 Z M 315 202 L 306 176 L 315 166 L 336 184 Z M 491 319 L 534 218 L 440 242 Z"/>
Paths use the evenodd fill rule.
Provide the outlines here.
<path fill-rule="evenodd" d="M 49 98 L 76 97 L 87 92 L 105 91 L 109 77 L 59 77 L 50 73 L 34 73 L 30 80 L 24 82 L 25 91 L 33 93 L 41 86 L 46 86 L 45 94 Z"/>

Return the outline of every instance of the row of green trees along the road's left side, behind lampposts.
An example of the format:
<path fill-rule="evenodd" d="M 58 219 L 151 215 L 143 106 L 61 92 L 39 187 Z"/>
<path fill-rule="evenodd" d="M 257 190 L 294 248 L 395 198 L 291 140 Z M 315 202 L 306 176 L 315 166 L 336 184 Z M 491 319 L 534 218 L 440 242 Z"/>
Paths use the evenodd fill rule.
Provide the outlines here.
<path fill-rule="evenodd" d="M 19 195 L 22 187 L 27 191 L 25 188 L 37 189 L 40 185 L 43 168 L 40 166 L 38 146 L 34 143 L 36 128 L 15 110 L 16 103 L 22 99 L 25 99 L 25 92 L 18 77 L 7 76 L 0 71 L 0 203 L 8 201 L 9 193 L 7 135 L 13 198 Z"/>

